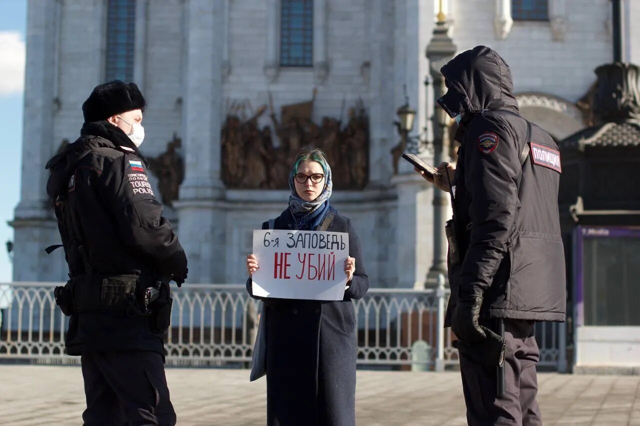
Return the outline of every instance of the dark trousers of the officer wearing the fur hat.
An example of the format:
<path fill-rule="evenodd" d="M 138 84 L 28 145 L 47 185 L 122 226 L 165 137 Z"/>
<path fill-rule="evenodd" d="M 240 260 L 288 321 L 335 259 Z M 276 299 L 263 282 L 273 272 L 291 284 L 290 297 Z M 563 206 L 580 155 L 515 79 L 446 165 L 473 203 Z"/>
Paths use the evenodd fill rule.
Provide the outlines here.
<path fill-rule="evenodd" d="M 161 354 L 151 351 L 85 352 L 84 426 L 175 425 Z"/>

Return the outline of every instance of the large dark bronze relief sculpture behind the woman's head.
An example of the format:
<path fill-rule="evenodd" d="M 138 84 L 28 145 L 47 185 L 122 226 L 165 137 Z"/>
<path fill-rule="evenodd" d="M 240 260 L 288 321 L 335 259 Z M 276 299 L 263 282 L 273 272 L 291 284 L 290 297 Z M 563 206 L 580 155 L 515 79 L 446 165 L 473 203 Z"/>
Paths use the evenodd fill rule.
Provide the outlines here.
<path fill-rule="evenodd" d="M 364 103 L 358 100 L 349 108 L 344 125 L 341 117 L 323 117 L 318 125 L 312 120 L 315 98 L 314 90 L 311 100 L 282 106 L 278 118 L 269 94 L 270 123 L 262 126 L 259 120 L 266 105 L 253 111 L 250 104 L 232 103 L 221 131 L 221 174 L 225 185 L 237 189 L 287 189 L 289 164 L 301 148 L 312 147 L 326 153 L 335 187 L 362 189 L 369 179 L 369 117 Z"/>

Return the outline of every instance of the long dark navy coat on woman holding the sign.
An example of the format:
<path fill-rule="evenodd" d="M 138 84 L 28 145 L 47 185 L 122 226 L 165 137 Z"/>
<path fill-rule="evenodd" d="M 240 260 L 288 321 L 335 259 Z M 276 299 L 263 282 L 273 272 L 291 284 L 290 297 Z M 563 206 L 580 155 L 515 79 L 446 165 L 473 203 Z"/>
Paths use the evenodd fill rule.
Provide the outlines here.
<path fill-rule="evenodd" d="M 262 228 L 267 228 L 266 223 Z M 275 229 L 294 229 L 289 211 Z M 356 328 L 351 299 L 369 289 L 360 241 L 351 221 L 336 214 L 330 232 L 349 233 L 356 270 L 342 301 L 262 299 L 267 333 L 267 424 L 273 426 L 355 425 Z M 336 265 L 343 271 L 344 265 Z M 246 283 L 252 294 L 252 281 Z"/>

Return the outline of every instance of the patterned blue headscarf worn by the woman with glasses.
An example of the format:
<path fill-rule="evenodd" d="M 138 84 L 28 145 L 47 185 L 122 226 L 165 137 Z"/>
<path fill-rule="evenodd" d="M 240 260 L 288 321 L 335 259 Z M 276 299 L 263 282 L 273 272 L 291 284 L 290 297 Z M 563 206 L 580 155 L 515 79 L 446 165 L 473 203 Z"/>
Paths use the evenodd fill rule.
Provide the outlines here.
<path fill-rule="evenodd" d="M 313 201 L 305 201 L 298 193 L 296 193 L 296 184 L 294 183 L 295 175 L 289 177 L 289 210 L 296 221 L 296 229 L 298 230 L 314 230 L 317 225 L 324 219 L 329 210 L 335 210 L 329 203 L 329 197 L 332 193 L 333 182 L 331 180 L 331 167 L 326 165 L 324 171 L 324 189 L 322 193 Z"/>

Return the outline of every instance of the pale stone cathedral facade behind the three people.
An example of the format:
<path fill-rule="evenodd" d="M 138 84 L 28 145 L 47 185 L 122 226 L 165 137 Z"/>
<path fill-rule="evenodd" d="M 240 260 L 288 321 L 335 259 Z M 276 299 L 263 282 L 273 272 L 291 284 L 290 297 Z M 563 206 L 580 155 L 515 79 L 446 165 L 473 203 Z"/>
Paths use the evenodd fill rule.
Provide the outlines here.
<path fill-rule="evenodd" d="M 372 285 L 422 285 L 433 189 L 403 161 L 394 173 L 391 151 L 406 93 L 412 136 L 431 162 L 425 49 L 438 3 L 29 0 L 14 280 L 65 280 L 63 252 L 44 252 L 60 241 L 44 166 L 79 135 L 92 88 L 118 78 L 147 99 L 141 150 L 189 281 L 244 282 L 252 230 L 287 205 L 292 155 L 321 146 L 334 169 L 332 203 L 353 219 Z M 612 57 L 608 0 L 443 3 L 458 52 L 485 44 L 504 56 L 525 117 L 557 139 L 586 127 L 593 69 Z M 627 19 L 640 15 L 627 6 Z M 640 30 L 629 31 L 631 40 Z"/>

